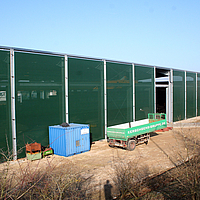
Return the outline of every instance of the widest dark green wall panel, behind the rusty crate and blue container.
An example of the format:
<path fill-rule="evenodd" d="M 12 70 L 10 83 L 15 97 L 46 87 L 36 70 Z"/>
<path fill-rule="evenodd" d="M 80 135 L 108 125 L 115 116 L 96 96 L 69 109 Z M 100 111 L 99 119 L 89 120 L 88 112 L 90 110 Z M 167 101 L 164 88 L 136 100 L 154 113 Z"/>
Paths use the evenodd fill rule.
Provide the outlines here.
<path fill-rule="evenodd" d="M 49 145 L 48 126 L 65 121 L 64 57 L 15 52 L 17 149 Z"/>

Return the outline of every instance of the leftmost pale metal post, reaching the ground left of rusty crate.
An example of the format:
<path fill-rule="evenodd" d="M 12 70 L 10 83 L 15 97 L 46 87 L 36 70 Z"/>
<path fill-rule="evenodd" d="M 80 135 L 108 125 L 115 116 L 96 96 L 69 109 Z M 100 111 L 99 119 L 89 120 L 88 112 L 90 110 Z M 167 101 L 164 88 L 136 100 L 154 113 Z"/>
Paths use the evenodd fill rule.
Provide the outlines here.
<path fill-rule="evenodd" d="M 14 63 L 15 63 L 14 50 L 10 49 L 12 145 L 13 145 L 13 160 L 17 160 L 17 138 L 16 138 L 16 117 L 15 117 L 15 64 Z"/>

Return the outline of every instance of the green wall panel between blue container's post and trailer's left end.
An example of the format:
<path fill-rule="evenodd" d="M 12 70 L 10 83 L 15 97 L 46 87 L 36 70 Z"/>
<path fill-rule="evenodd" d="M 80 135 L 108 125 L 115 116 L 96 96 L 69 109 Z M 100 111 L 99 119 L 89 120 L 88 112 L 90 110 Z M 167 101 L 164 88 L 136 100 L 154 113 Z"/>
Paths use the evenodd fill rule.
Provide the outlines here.
<path fill-rule="evenodd" d="M 89 124 L 91 140 L 104 136 L 104 63 L 68 58 L 69 121 Z"/>

